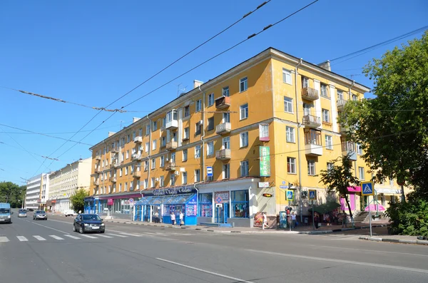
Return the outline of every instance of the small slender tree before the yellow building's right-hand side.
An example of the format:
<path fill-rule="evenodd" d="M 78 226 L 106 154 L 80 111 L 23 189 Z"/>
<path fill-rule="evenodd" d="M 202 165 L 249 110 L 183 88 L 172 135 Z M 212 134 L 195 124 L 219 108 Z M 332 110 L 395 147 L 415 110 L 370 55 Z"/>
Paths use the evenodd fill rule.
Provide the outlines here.
<path fill-rule="evenodd" d="M 350 160 L 350 153 L 342 155 L 335 160 L 331 160 L 334 166 L 328 170 L 321 170 L 321 182 L 327 186 L 328 192 L 337 192 L 345 198 L 346 205 L 350 212 L 352 226 L 354 225 L 354 217 L 352 217 L 352 210 L 348 198 L 348 187 L 355 187 L 360 184 L 360 180 L 352 175 L 352 160 Z"/>

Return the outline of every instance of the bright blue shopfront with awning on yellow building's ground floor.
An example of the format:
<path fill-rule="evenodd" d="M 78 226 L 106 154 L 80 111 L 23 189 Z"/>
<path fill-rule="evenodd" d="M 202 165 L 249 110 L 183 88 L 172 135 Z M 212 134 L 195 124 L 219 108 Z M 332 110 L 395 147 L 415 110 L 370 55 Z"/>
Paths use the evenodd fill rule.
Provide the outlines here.
<path fill-rule="evenodd" d="M 179 225 L 180 212 L 183 212 L 185 225 L 196 225 L 198 197 L 193 187 L 143 191 L 141 200 L 134 205 L 134 220 L 170 224 L 170 215 L 173 213 L 175 223 Z"/>

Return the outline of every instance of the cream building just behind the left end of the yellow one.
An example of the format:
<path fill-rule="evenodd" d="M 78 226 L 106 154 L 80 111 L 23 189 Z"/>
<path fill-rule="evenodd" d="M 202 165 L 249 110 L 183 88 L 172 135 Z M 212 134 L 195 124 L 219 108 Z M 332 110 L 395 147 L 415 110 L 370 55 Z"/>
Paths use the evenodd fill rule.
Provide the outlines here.
<path fill-rule="evenodd" d="M 71 209 L 70 197 L 78 189 L 89 190 L 92 158 L 80 159 L 49 175 L 49 200 L 53 212 Z"/>

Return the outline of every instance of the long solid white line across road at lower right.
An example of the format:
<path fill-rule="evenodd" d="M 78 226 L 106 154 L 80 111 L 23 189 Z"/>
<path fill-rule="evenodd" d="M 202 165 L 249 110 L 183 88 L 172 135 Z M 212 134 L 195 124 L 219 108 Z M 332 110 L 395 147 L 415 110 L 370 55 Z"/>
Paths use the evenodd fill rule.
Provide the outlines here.
<path fill-rule="evenodd" d="M 355 265 L 362 265 L 365 267 L 379 267 L 379 268 L 387 268 L 387 269 L 399 269 L 399 270 L 405 270 L 405 271 L 411 271 L 411 272 L 422 272 L 428 274 L 428 269 L 417 269 L 417 268 L 411 268 L 411 267 L 399 267 L 394 265 L 386 265 L 386 264 L 376 264 L 376 263 L 370 263 L 370 262 L 352 262 L 351 260 L 344 260 L 344 259 L 329 259 L 326 257 L 309 257 L 305 255 L 298 255 L 298 254 L 282 254 L 279 252 L 266 252 L 260 249 L 245 249 L 248 252 L 262 252 L 264 254 L 272 254 L 277 255 L 280 257 L 294 257 L 298 259 L 312 259 L 312 260 L 319 260 L 322 262 L 337 262 L 337 263 L 346 263 L 346 264 L 355 264 Z"/>

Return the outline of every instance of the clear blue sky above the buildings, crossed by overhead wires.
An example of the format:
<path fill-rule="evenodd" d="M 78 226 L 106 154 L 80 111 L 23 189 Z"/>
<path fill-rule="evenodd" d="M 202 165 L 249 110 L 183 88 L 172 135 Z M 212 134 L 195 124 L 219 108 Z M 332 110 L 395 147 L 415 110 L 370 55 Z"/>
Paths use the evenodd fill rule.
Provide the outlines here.
<path fill-rule="evenodd" d="M 0 1 L 0 180 L 22 185 L 22 178 L 58 170 L 88 158 L 88 145 L 24 133 L 5 125 L 70 138 L 96 110 L 58 103 L 14 88 L 87 106 L 103 107 L 261 4 L 261 0 L 218 1 Z M 238 25 L 113 104 L 120 108 L 175 76 L 257 33 L 311 1 L 272 0 Z M 272 46 L 312 63 L 358 51 L 426 26 L 424 0 L 320 0 L 232 51 L 141 99 L 126 110 L 100 113 L 73 140 L 90 145 Z M 361 73 L 371 58 L 422 33 L 382 46 L 332 71 L 366 86 Z M 180 85 L 180 86 L 179 86 Z M 70 150 L 68 150 L 71 148 Z M 41 156 L 58 158 L 45 160 Z"/>

